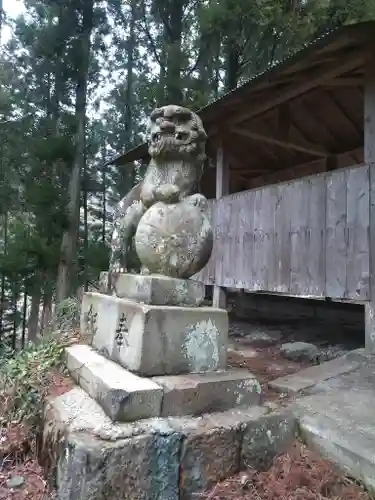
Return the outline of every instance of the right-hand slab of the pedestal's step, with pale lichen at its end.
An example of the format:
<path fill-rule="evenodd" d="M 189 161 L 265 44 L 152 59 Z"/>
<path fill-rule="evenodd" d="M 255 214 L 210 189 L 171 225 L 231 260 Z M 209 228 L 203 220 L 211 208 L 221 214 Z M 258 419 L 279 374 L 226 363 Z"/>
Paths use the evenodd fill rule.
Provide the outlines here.
<path fill-rule="evenodd" d="M 261 387 L 247 370 L 167 375 L 153 380 L 164 390 L 161 415 L 202 413 L 259 405 Z"/>

